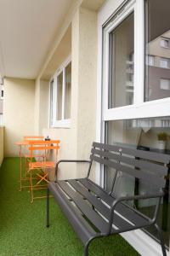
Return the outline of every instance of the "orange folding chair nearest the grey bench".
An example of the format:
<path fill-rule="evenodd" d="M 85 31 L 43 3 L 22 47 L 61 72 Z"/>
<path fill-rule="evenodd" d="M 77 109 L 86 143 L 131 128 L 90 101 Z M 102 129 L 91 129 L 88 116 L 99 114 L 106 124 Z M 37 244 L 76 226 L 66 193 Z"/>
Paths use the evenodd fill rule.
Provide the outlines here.
<path fill-rule="evenodd" d="M 47 188 L 48 172 L 55 168 L 56 162 L 58 161 L 59 143 L 59 140 L 29 141 L 31 158 L 28 172 L 30 173 L 31 203 L 34 201 L 34 199 L 46 197 L 46 195 L 35 196 L 34 190 Z M 37 150 L 42 150 L 43 152 L 44 157 L 42 158 L 42 161 L 34 161 L 34 152 Z M 47 160 L 47 154 L 49 150 L 55 150 L 55 161 Z M 35 182 L 33 172 L 35 172 L 36 176 L 39 178 L 36 183 L 33 183 Z"/>

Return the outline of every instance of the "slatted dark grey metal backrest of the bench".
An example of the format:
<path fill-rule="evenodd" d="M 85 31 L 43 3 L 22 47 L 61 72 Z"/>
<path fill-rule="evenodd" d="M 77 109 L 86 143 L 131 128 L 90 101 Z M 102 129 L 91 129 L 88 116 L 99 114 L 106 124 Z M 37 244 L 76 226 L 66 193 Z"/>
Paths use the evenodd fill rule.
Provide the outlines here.
<path fill-rule="evenodd" d="M 125 172 L 141 181 L 163 188 L 167 175 L 169 154 L 160 154 L 117 145 L 93 143 L 90 159 L 102 165 Z"/>

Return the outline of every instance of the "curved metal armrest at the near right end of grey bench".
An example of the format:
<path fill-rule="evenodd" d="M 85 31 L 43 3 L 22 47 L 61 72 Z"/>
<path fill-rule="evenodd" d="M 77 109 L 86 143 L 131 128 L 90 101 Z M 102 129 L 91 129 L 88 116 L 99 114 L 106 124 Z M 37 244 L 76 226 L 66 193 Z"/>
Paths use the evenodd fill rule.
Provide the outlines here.
<path fill-rule="evenodd" d="M 158 212 L 158 208 L 161 202 L 161 197 L 163 196 L 163 191 L 156 193 L 156 194 L 148 194 L 148 195 L 130 195 L 130 196 L 122 196 L 117 198 L 115 201 L 113 201 L 112 206 L 111 206 L 111 215 L 110 215 L 110 219 L 109 219 L 109 229 L 108 229 L 108 234 L 111 234 L 111 229 L 112 229 L 112 223 L 113 223 L 113 218 L 114 218 L 114 211 L 116 208 L 116 205 L 122 201 L 133 201 L 133 200 L 146 200 L 146 199 L 151 199 L 151 198 L 158 198 L 159 201 L 156 205 L 156 210 L 154 213 L 154 218 L 150 219 L 151 222 L 155 222 L 156 221 L 156 215 Z M 141 213 L 142 215 L 142 213 Z"/>

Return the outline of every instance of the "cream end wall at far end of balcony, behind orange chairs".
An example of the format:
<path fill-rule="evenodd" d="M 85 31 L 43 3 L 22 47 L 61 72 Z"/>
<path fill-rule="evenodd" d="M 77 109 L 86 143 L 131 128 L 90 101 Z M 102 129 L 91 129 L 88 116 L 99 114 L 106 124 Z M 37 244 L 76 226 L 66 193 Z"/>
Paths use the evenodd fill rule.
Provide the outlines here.
<path fill-rule="evenodd" d="M 35 81 L 4 79 L 4 156 L 18 156 L 15 142 L 34 134 Z"/>

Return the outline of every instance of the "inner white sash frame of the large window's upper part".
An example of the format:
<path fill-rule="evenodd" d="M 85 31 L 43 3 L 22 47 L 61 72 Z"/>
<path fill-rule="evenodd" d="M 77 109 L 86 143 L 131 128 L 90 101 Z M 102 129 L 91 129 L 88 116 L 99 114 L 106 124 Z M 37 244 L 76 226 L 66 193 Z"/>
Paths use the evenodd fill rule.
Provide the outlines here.
<path fill-rule="evenodd" d="M 112 0 L 108 1 L 112 2 Z M 111 8 L 111 7 L 110 7 Z M 109 33 L 134 11 L 134 91 L 133 105 L 108 108 L 108 61 L 105 64 L 103 79 L 103 120 L 142 119 L 169 116 L 170 97 L 144 102 L 144 0 L 127 1 L 121 15 L 105 29 L 105 60 L 109 58 Z M 100 44 L 102 40 L 100 39 Z M 100 46 L 101 49 L 101 46 Z M 101 57 L 102 58 L 102 57 Z M 140 61 L 138 61 L 140 60 Z M 102 70 L 100 71 L 102 72 Z M 137 111 L 138 110 L 138 111 Z M 121 117 L 121 118 L 120 118 Z"/>

